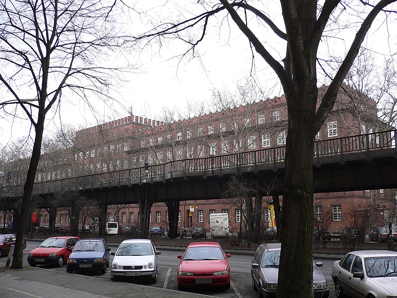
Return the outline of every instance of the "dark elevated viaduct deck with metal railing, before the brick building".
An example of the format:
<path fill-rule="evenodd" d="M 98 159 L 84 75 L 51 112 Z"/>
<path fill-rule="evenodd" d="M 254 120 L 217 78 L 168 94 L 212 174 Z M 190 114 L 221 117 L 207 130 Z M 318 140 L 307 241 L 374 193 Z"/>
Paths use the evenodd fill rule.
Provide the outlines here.
<path fill-rule="evenodd" d="M 389 130 L 316 142 L 313 157 L 315 191 L 397 188 L 396 137 L 397 130 Z M 185 200 L 215 198 L 219 196 L 225 181 L 235 174 L 265 177 L 271 184 L 269 192 L 280 194 L 283 189 L 284 158 L 285 146 L 281 146 L 174 160 L 37 182 L 33 194 L 82 191 L 86 194 L 95 192 L 99 196 L 98 193 L 112 189 L 157 187 L 156 198 L 159 201 L 182 197 Z M 216 190 L 210 190 L 212 188 Z M 22 190 L 23 186 L 9 186 L 7 197 L 19 197 Z M 125 194 L 123 196 L 126 197 Z M 110 204 L 131 202 L 134 201 L 132 197 L 106 201 Z"/>

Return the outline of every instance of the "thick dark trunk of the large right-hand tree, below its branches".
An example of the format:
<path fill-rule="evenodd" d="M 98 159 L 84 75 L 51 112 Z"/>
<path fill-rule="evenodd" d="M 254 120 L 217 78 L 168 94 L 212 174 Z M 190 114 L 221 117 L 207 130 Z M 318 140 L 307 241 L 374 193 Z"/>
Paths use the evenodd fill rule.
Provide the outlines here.
<path fill-rule="evenodd" d="M 295 79 L 286 94 L 288 135 L 277 297 L 313 298 L 313 153 L 316 82 Z M 294 283 L 294 280 L 300 281 Z"/>

